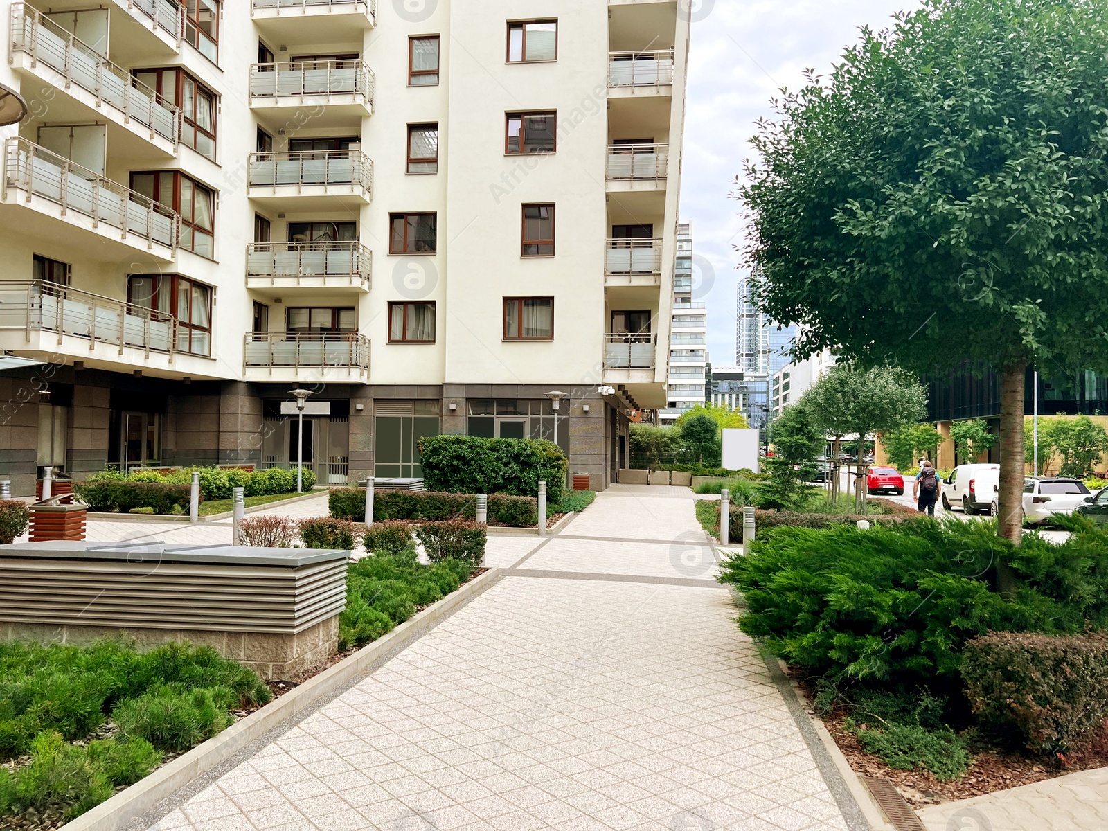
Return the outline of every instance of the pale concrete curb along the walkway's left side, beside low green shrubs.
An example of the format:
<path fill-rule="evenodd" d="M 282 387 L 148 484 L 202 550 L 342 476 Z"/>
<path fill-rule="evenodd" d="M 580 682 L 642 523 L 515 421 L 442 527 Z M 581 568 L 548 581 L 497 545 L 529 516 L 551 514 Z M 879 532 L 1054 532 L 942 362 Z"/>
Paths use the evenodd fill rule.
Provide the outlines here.
<path fill-rule="evenodd" d="M 60 831 L 117 831 L 157 807 L 181 788 L 198 779 L 212 768 L 235 756 L 247 745 L 279 727 L 287 719 L 309 710 L 337 688 L 367 673 L 377 660 L 407 640 L 413 632 L 447 617 L 458 606 L 491 587 L 500 578 L 499 568 L 459 587 L 456 592 L 431 604 L 397 628 L 367 644 L 345 660 L 328 667 L 280 698 L 260 707 L 218 736 L 213 736 L 177 757 L 148 777 L 124 788 L 111 799 L 66 822 Z"/>

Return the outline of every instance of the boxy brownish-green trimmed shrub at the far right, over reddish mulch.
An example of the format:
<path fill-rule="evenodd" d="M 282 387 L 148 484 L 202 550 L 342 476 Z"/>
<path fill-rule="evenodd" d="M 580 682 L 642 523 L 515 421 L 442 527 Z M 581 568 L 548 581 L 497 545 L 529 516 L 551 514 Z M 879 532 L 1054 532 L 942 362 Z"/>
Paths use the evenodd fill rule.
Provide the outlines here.
<path fill-rule="evenodd" d="M 1081 750 L 1108 719 L 1108 635 L 991 633 L 965 645 L 962 677 L 982 720 L 1030 750 Z"/>

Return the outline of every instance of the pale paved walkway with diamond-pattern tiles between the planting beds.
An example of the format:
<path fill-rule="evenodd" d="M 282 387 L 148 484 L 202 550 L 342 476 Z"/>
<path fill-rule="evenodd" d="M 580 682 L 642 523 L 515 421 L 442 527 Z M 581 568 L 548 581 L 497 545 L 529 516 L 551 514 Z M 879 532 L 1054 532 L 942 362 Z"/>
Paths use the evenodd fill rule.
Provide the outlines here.
<path fill-rule="evenodd" d="M 612 489 L 488 561 L 506 576 L 151 831 L 864 827 L 736 629 L 688 489 Z"/>

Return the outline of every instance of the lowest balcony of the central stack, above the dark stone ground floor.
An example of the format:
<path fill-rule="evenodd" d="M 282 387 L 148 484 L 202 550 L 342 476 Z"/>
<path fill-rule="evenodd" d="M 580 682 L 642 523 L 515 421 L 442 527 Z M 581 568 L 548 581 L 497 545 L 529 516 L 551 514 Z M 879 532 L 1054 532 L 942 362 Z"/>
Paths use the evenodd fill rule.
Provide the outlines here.
<path fill-rule="evenodd" d="M 369 338 L 355 331 L 247 332 L 248 381 L 369 380 Z"/>

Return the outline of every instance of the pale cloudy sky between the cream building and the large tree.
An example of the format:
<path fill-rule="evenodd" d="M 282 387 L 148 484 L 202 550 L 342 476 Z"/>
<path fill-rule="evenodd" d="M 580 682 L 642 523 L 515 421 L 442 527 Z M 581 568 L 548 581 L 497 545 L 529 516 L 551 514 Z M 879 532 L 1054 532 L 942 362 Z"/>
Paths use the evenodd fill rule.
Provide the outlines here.
<path fill-rule="evenodd" d="M 696 0 L 686 93 L 681 222 L 693 223 L 695 300 L 708 309 L 708 352 L 735 365 L 735 289 L 742 206 L 729 197 L 770 99 L 803 71 L 827 75 L 859 28 L 882 29 L 917 0 Z M 701 257 L 704 259 L 701 259 Z M 700 279 L 697 274 L 700 273 Z M 706 285 L 707 284 L 707 285 Z"/>

